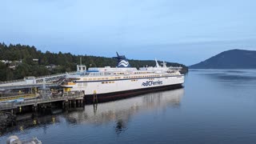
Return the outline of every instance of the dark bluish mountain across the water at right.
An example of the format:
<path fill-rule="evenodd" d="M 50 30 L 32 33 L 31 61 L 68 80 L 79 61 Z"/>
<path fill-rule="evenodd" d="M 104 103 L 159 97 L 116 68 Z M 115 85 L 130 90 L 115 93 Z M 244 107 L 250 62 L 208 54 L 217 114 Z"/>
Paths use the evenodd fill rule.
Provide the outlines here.
<path fill-rule="evenodd" d="M 256 69 L 255 50 L 227 50 L 206 61 L 189 67 L 190 69 Z"/>

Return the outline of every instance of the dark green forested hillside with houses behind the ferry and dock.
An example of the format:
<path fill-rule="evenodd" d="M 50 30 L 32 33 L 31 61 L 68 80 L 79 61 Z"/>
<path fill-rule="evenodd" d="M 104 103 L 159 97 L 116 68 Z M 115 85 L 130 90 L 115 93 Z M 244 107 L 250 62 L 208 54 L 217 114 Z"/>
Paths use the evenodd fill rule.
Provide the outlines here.
<path fill-rule="evenodd" d="M 115 54 L 113 52 L 113 54 Z M 42 53 L 34 46 L 12 45 L 6 46 L 0 42 L 0 81 L 20 79 L 26 76 L 42 76 L 76 70 L 80 63 L 88 67 L 116 66 L 114 58 L 104 58 L 70 53 Z M 129 60 L 133 67 L 155 66 L 154 61 Z M 187 67 L 178 63 L 167 62 L 167 66 L 182 66 L 183 73 Z"/>

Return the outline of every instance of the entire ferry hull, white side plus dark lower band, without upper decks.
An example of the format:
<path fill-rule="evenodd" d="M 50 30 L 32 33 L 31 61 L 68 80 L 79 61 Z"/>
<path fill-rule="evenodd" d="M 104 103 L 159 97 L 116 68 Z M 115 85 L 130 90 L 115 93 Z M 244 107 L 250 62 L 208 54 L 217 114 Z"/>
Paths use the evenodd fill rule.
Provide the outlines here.
<path fill-rule="evenodd" d="M 107 83 L 106 83 L 107 82 Z M 170 90 L 182 87 L 184 75 L 160 78 L 118 79 L 113 81 L 78 81 L 72 87 L 74 91 L 83 91 L 86 102 L 106 102 L 113 99 L 128 98 L 158 90 Z"/>

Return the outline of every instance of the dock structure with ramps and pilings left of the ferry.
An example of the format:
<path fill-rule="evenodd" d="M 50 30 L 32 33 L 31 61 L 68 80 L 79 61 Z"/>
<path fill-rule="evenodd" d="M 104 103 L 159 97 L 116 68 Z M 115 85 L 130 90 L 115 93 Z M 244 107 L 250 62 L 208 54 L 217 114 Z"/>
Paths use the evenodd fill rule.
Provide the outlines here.
<path fill-rule="evenodd" d="M 52 104 L 62 103 L 63 108 L 83 104 L 83 91 L 63 93 L 60 87 L 70 74 L 76 74 L 76 72 L 0 82 L 0 110 L 14 112 L 29 107 L 35 111 Z"/>

